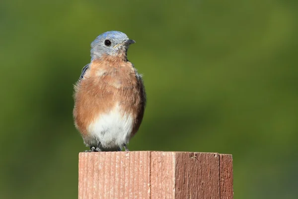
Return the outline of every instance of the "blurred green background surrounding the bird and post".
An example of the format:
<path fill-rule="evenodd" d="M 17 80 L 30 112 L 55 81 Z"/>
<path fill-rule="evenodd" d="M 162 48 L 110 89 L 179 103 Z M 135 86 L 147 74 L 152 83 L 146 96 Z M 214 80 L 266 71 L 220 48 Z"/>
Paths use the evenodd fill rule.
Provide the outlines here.
<path fill-rule="evenodd" d="M 73 84 L 108 30 L 137 41 L 131 150 L 233 155 L 235 199 L 298 198 L 297 0 L 1 0 L 0 198 L 77 198 Z"/>

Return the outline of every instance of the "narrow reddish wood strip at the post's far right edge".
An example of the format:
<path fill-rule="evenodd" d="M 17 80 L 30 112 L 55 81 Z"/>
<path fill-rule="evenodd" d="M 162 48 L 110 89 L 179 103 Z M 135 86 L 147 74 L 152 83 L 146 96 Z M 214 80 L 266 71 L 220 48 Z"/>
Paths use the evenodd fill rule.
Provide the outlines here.
<path fill-rule="evenodd" d="M 233 199 L 232 155 L 220 154 L 221 199 Z"/>

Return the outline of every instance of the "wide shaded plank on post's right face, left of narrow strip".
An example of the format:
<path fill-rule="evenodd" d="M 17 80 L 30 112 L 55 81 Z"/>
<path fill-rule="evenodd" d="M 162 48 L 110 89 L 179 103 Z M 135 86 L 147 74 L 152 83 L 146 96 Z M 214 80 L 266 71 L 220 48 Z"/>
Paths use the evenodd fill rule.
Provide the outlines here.
<path fill-rule="evenodd" d="M 218 153 L 176 153 L 176 199 L 220 199 Z"/>

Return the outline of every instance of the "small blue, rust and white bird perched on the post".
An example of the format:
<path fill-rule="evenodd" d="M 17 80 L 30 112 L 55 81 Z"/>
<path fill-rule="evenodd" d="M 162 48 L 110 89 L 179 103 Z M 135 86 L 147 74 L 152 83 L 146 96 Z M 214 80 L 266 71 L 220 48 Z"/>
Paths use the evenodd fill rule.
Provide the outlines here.
<path fill-rule="evenodd" d="M 91 61 L 74 84 L 74 125 L 90 150 L 129 151 L 146 106 L 142 75 L 127 59 L 136 43 L 120 31 L 100 34 L 91 43 Z"/>

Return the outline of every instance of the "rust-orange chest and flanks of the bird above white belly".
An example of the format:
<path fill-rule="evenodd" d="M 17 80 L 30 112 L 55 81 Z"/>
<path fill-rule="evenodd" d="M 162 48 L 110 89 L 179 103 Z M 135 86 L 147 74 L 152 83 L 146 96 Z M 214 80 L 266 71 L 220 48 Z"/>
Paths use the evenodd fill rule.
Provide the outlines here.
<path fill-rule="evenodd" d="M 119 105 L 122 114 L 133 117 L 133 132 L 142 122 L 146 103 L 144 85 L 130 62 L 104 58 L 93 60 L 84 78 L 75 86 L 74 120 L 82 135 L 100 114 Z"/>

